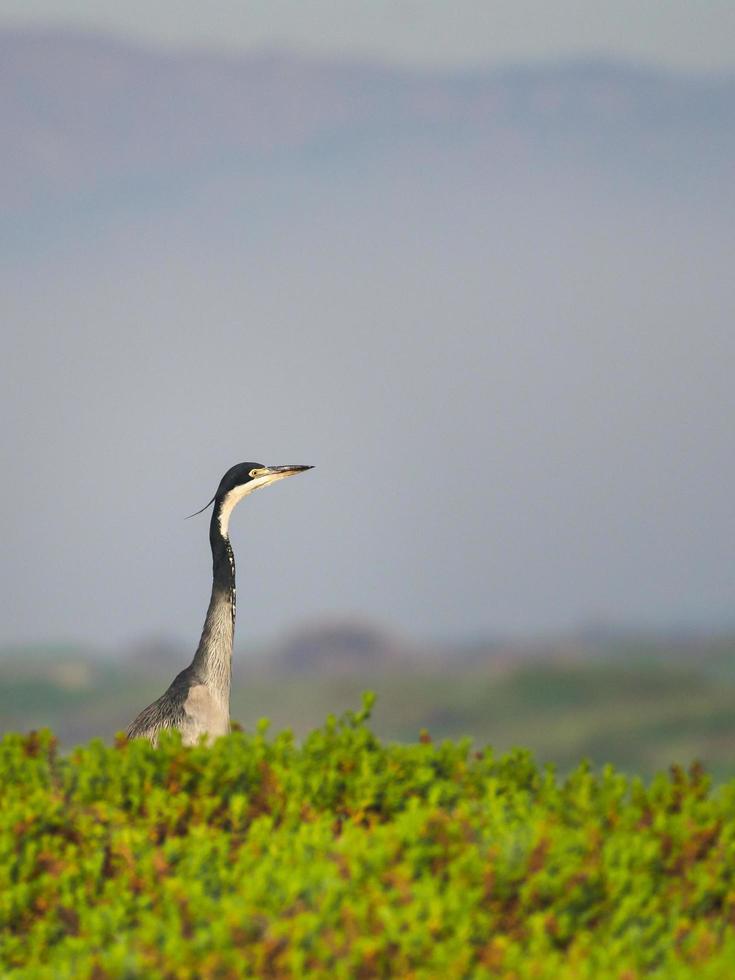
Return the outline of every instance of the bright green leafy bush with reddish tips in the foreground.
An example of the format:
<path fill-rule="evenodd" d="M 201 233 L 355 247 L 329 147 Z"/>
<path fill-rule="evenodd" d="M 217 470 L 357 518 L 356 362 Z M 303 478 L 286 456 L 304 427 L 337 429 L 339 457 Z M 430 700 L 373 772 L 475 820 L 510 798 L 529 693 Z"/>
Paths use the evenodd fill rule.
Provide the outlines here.
<path fill-rule="evenodd" d="M 0 742 L 0 973 L 725 977 L 735 784 L 381 743 Z"/>

